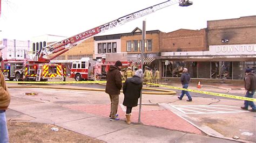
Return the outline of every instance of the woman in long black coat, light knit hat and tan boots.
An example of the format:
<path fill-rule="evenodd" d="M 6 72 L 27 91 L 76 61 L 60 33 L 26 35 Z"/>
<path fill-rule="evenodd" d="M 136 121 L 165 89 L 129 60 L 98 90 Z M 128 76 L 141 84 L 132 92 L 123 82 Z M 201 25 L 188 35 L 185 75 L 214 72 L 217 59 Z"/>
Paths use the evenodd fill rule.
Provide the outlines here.
<path fill-rule="evenodd" d="M 142 91 L 143 86 L 142 75 L 142 69 L 136 70 L 131 78 L 127 78 L 123 86 L 123 105 L 126 106 L 125 116 L 127 124 L 131 124 L 132 108 L 138 105 L 138 98 L 140 97 L 140 92 Z"/>

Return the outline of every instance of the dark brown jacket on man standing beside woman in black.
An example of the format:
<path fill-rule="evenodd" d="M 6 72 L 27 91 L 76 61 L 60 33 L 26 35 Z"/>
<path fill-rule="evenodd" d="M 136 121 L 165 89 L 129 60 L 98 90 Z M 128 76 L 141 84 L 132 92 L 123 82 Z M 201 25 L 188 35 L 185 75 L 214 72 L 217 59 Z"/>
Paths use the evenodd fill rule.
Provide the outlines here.
<path fill-rule="evenodd" d="M 120 69 L 111 65 L 106 75 L 106 89 L 105 92 L 109 95 L 119 95 L 122 89 L 122 75 Z"/>

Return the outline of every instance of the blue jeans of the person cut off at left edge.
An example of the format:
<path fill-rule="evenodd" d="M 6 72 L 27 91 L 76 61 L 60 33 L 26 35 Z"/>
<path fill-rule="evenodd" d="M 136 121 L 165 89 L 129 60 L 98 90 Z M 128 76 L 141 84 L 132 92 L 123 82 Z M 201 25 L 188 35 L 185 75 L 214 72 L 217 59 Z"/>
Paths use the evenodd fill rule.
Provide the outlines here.
<path fill-rule="evenodd" d="M 5 110 L 0 110 L 0 143 L 9 142 Z"/>

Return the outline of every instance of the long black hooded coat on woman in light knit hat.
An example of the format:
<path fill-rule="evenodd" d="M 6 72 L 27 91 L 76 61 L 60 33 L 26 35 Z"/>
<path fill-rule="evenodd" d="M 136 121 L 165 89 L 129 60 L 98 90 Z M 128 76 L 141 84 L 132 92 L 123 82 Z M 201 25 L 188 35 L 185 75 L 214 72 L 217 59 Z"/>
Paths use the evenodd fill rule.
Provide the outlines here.
<path fill-rule="evenodd" d="M 138 105 L 138 98 L 140 97 L 140 91 L 142 91 L 142 85 L 142 78 L 136 75 L 134 75 L 131 78 L 127 78 L 123 86 L 123 105 L 129 107 L 134 107 Z"/>

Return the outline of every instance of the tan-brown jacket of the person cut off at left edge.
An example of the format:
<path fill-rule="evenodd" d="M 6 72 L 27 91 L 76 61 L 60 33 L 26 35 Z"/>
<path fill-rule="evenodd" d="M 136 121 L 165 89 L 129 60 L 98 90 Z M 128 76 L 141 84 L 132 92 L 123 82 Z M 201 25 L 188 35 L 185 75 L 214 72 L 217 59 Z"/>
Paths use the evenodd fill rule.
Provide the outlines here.
<path fill-rule="evenodd" d="M 11 95 L 8 92 L 8 88 L 5 84 L 4 75 L 0 70 L 0 110 L 6 110 L 11 101 Z"/>

